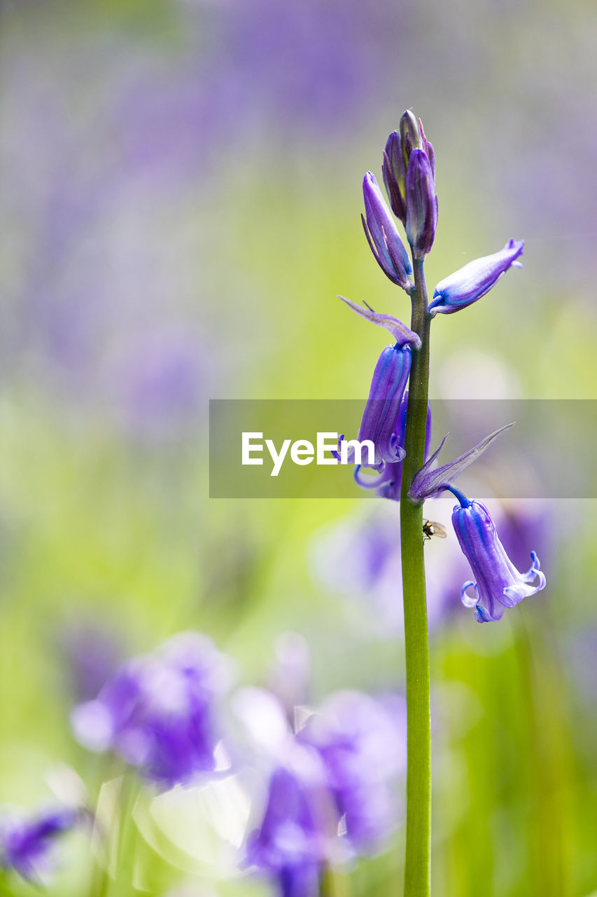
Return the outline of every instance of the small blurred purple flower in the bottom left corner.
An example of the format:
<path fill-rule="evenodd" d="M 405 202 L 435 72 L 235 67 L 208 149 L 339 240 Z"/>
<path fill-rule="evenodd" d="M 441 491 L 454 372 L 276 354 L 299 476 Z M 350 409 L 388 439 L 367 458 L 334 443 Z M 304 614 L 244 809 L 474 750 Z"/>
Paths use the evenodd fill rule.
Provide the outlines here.
<path fill-rule="evenodd" d="M 54 841 L 76 822 L 74 810 L 65 808 L 47 810 L 29 820 L 15 816 L 0 819 L 0 866 L 44 884 L 55 867 L 51 856 Z"/>

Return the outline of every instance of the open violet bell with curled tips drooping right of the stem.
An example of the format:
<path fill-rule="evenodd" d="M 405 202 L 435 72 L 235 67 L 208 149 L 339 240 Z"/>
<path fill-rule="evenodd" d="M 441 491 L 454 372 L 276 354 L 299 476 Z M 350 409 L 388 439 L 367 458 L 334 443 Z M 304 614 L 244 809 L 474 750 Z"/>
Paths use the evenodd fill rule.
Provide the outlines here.
<path fill-rule="evenodd" d="M 476 608 L 478 623 L 500 620 L 505 607 L 514 607 L 545 588 L 539 558 L 531 552 L 529 570 L 516 570 L 499 541 L 488 509 L 480 501 L 468 501 L 460 493 L 455 494 L 460 504 L 452 512 L 454 532 L 476 579 L 464 583 L 463 605 Z"/>

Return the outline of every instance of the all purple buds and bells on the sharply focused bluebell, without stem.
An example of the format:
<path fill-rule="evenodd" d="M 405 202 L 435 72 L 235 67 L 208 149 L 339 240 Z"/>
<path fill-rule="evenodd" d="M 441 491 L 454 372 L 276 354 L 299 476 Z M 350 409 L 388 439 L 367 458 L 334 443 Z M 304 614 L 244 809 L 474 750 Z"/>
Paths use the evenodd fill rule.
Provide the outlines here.
<path fill-rule="evenodd" d="M 411 280 L 411 275 L 414 271 L 416 280 L 417 266 L 422 268 L 423 261 L 433 246 L 437 229 L 437 195 L 435 152 L 428 142 L 420 119 L 415 118 L 410 110 L 402 115 L 399 130 L 393 131 L 387 139 L 382 173 L 391 211 L 385 203 L 375 175 L 368 171 L 363 180 L 365 200 L 365 216 L 361 215 L 363 228 L 377 264 L 384 274 L 393 283 L 402 287 L 402 290 L 408 292 L 414 301 L 416 284 Z M 402 242 L 392 213 L 404 226 L 406 239 L 411 248 L 411 258 Z M 454 311 L 465 309 L 479 300 L 496 285 L 509 268 L 522 267 L 518 259 L 523 254 L 523 246 L 523 240 L 510 239 L 503 249 L 469 262 L 437 283 L 431 301 L 428 302 L 426 297 L 423 298 L 424 317 L 429 320 L 435 318 L 437 314 L 453 314 Z M 411 372 L 412 354 L 420 350 L 420 335 L 402 324 L 398 318 L 376 312 L 369 306 L 363 309 L 342 296 L 340 298 L 361 317 L 385 327 L 395 340 L 395 344 L 387 346 L 382 351 L 377 361 L 359 428 L 359 441 L 370 440 L 375 445 L 375 463 L 355 465 L 354 476 L 361 488 L 375 489 L 377 495 L 399 501 L 402 460 L 406 454 L 404 449 L 406 386 Z M 420 302 L 421 296 L 418 295 L 416 300 Z M 506 429 L 504 427 L 496 433 L 491 433 L 485 440 L 481 440 L 478 446 L 465 452 L 451 464 L 436 470 L 433 469 L 433 464 L 445 440 L 437 451 L 427 458 L 431 432 L 428 411 L 425 463 L 411 483 L 408 493 L 410 501 L 421 504 L 426 498 L 452 488 L 454 477 L 476 460 L 499 433 Z M 354 463 L 354 453 L 347 457 Z M 363 476 L 360 472 L 361 466 L 373 467 L 377 475 Z M 495 539 L 494 536 L 489 538 L 489 530 L 493 527 L 489 515 L 489 523 L 484 525 L 484 529 L 480 527 L 479 532 L 483 530 L 493 548 L 483 554 L 480 548 L 483 540 L 480 537 L 476 541 L 471 540 L 469 536 L 464 535 L 463 528 L 463 520 L 468 520 L 470 516 L 474 517 L 475 511 L 483 506 L 472 502 L 462 507 L 466 509 L 467 514 L 463 516 L 460 514 L 461 509 L 454 509 L 454 529 L 463 553 L 477 577 L 476 585 L 469 582 L 463 587 L 463 601 L 470 604 L 472 598 L 469 597 L 467 589 L 474 585 L 476 619 L 480 622 L 498 620 L 503 607 L 512 606 L 526 595 L 532 595 L 543 588 L 545 577 L 539 572 L 539 561 L 534 553 L 532 568 L 527 573 L 521 574 L 515 570 L 497 536 Z M 485 509 L 483 511 L 487 514 Z M 495 535 L 495 527 L 492 532 Z M 484 577 L 482 570 L 492 563 L 499 573 Z M 537 577 L 538 585 L 536 587 L 530 585 Z M 490 587 L 487 583 L 490 583 Z"/>

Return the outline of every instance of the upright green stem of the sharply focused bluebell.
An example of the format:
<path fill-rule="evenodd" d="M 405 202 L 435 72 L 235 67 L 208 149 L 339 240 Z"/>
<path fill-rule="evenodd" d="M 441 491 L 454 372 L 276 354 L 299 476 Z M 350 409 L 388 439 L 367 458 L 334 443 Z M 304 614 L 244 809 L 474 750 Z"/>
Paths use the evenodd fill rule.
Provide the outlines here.
<path fill-rule="evenodd" d="M 431 318 L 428 313 L 422 260 L 414 261 L 414 277 L 411 329 L 420 335 L 422 345 L 419 350 L 412 352 L 404 439 L 406 457 L 402 462 L 400 501 L 408 753 L 404 897 L 428 897 L 431 839 L 431 727 L 423 509 L 413 504 L 407 495 L 412 478 L 423 466 L 425 459 Z"/>

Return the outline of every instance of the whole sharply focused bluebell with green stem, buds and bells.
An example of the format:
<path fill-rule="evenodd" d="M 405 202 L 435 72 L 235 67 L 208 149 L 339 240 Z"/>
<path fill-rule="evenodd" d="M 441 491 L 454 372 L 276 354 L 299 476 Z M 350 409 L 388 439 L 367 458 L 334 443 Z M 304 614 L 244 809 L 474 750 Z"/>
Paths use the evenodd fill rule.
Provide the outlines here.
<path fill-rule="evenodd" d="M 408 716 L 407 735 L 407 806 L 406 849 L 404 862 L 404 897 L 428 897 L 429 845 L 430 845 L 430 725 L 429 725 L 429 663 L 428 618 L 423 556 L 422 505 L 431 495 L 446 488 L 465 467 L 472 464 L 496 439 L 496 431 L 481 440 L 479 445 L 465 452 L 453 462 L 433 469 L 439 450 L 426 461 L 428 446 L 428 374 L 429 330 L 437 314 L 451 314 L 477 301 L 495 286 L 510 267 L 520 267 L 518 258 L 523 252 L 523 241 L 509 240 L 504 249 L 491 256 L 479 258 L 437 284 L 431 302 L 428 301 L 424 274 L 424 260 L 432 248 L 437 230 L 436 162 L 433 146 L 429 144 L 420 119 L 407 110 L 400 120 L 399 130 L 394 131 L 385 144 L 382 173 L 385 189 L 396 218 L 402 222 L 411 248 L 412 266 L 405 261 L 402 240 L 394 219 L 371 172 L 365 176 L 364 194 L 367 211 L 365 231 L 369 245 L 385 274 L 402 286 L 411 296 L 410 330 L 417 340 L 410 340 L 408 351 L 411 367 L 408 379 L 408 400 L 405 419 L 395 403 L 384 406 L 384 414 L 373 414 L 373 406 L 366 409 L 367 426 L 359 433 L 381 433 L 383 457 L 374 466 L 378 476 L 364 476 L 360 467 L 355 470 L 355 480 L 363 488 L 375 488 L 378 495 L 397 499 L 400 490 L 402 596 L 404 605 L 404 645 L 406 660 L 406 702 Z M 411 274 L 413 282 L 411 283 Z M 355 309 L 357 310 L 357 309 Z M 363 314 L 363 312 L 360 312 Z M 369 309 L 363 314 L 379 326 L 389 329 L 390 316 Z M 401 327 L 404 327 L 401 325 Z M 387 351 L 387 350 L 386 350 Z M 404 350 L 402 350 L 404 351 Z M 388 363 L 389 358 L 384 363 Z M 378 362 L 378 364 L 381 363 Z M 395 397 L 395 392 L 385 383 L 383 368 L 376 369 L 374 382 L 385 389 L 385 394 Z M 369 396 L 373 400 L 373 394 Z M 394 417 L 394 422 L 392 418 Z M 365 417 L 364 417 L 365 422 Z M 392 424 L 392 429 L 390 426 Z M 509 426 L 509 425 L 508 425 Z M 483 531 L 489 534 L 489 527 Z M 504 599 L 515 600 L 530 594 L 529 589 L 542 588 L 542 574 L 535 563 L 527 573 L 515 571 L 507 560 L 503 548 L 492 543 L 491 559 L 499 566 L 503 588 L 498 605 Z M 473 556 L 473 555 L 471 555 Z M 476 555 L 475 555 L 476 556 Z M 506 559 L 506 560 L 505 560 Z M 506 582 L 506 573 L 509 577 Z M 536 579 L 538 578 L 539 585 Z M 479 579 L 479 583 L 481 580 Z M 494 583 L 495 586 L 495 583 Z M 470 586 L 467 588 L 471 588 Z M 479 588 L 476 586 L 475 588 Z M 484 586 L 483 586 L 484 588 Z M 510 590 L 510 591 L 508 591 Z M 513 591 L 514 590 L 514 591 Z M 485 592 L 483 593 L 485 594 Z M 491 593 L 493 595 L 493 592 Z M 485 600 L 485 599 L 484 599 Z M 488 605 L 488 606 L 486 606 Z M 479 602 L 481 610 L 491 619 L 497 619 L 499 608 L 494 601 L 489 607 Z M 504 605 L 505 606 L 505 605 Z M 493 614 L 493 615 L 491 615 Z M 485 616 L 483 616 L 485 619 Z"/>

